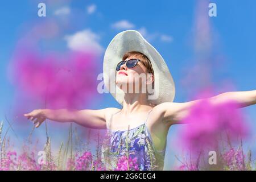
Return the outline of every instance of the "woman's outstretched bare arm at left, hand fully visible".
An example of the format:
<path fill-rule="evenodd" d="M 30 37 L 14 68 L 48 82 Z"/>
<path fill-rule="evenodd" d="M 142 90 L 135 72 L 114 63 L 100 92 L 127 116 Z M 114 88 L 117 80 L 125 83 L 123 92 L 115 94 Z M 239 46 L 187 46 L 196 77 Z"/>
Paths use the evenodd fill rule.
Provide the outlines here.
<path fill-rule="evenodd" d="M 75 122 L 79 125 L 93 129 L 106 129 L 106 113 L 111 113 L 113 110 L 117 109 L 37 109 L 33 110 L 31 113 L 24 114 L 24 116 L 31 119 L 36 127 L 39 127 L 46 119 L 50 119 L 57 122 Z"/>

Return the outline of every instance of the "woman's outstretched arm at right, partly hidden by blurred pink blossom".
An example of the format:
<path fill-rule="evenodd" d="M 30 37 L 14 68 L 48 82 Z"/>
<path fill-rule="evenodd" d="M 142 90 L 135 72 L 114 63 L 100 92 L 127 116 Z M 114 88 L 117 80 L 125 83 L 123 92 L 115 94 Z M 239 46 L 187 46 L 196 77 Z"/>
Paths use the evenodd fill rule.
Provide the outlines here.
<path fill-rule="evenodd" d="M 208 99 L 212 104 L 221 104 L 233 100 L 237 102 L 238 107 L 246 107 L 256 104 L 256 90 L 225 92 Z M 164 102 L 155 107 L 162 115 L 162 121 L 171 126 L 172 124 L 181 123 L 180 121 L 187 116 L 189 108 L 199 101 L 201 100 L 184 103 Z"/>

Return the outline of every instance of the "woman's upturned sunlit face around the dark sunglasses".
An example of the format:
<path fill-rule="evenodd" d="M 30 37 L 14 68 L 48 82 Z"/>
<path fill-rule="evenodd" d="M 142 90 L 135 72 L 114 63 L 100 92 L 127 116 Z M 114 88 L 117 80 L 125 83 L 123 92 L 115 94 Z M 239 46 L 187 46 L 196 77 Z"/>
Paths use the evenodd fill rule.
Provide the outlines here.
<path fill-rule="evenodd" d="M 135 56 L 128 57 L 126 60 L 138 59 Z M 126 61 L 125 60 L 125 61 Z M 147 82 L 147 68 L 141 61 L 133 68 L 127 68 L 126 64 L 121 65 L 116 73 L 115 84 L 125 93 L 141 93 L 143 86 Z M 144 92 L 146 93 L 146 92 Z"/>

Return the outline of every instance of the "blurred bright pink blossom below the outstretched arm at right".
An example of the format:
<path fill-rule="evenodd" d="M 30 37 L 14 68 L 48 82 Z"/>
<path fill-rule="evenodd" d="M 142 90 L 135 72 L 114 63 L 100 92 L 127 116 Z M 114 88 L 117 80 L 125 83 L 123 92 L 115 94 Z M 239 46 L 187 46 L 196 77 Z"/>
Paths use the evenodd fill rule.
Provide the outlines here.
<path fill-rule="evenodd" d="M 221 136 L 228 135 L 230 142 L 246 137 L 248 127 L 234 101 L 212 104 L 201 100 L 191 107 L 186 125 L 181 130 L 181 142 L 189 152 L 197 153 L 207 148 L 216 148 Z"/>

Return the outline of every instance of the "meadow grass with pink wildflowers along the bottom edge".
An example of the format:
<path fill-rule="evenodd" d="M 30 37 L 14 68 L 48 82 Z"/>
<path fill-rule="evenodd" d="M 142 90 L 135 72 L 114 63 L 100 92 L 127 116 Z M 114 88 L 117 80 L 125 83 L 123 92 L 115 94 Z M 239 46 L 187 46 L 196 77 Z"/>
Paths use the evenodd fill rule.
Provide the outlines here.
<path fill-rule="evenodd" d="M 1 144 L 1 160 L 0 169 L 1 170 L 88 170 L 96 171 L 105 169 L 101 163 L 101 135 L 100 132 L 96 134 L 97 143 L 96 154 L 93 155 L 89 149 L 89 141 L 86 140 L 85 143 L 77 134 L 77 129 L 73 129 L 72 123 L 69 126 L 69 134 L 67 143 L 61 142 L 59 145 L 59 151 L 57 154 L 53 154 L 51 150 L 51 138 L 47 133 L 46 125 L 46 143 L 42 151 L 45 154 L 45 158 L 39 160 L 38 151 L 36 147 L 32 147 L 31 135 L 34 131 L 34 127 L 31 133 L 28 135 L 28 139 L 24 141 L 23 150 L 21 152 L 14 151 L 10 147 L 10 139 L 7 137 L 7 133 L 10 126 L 7 127 L 6 133 L 3 134 L 3 122 L 0 123 L 0 144 Z M 88 139 L 92 136 L 89 130 Z M 127 134 L 128 135 L 128 134 Z M 126 138 L 127 140 L 127 138 Z M 127 145 L 127 141 L 126 141 Z M 83 147 L 82 147 L 83 146 Z M 180 166 L 177 166 L 175 170 L 255 170 L 255 164 L 252 160 L 251 150 L 245 155 L 243 149 L 242 139 L 240 145 L 236 148 L 233 147 L 231 143 L 222 143 L 225 146 L 225 150 L 217 151 L 217 165 L 209 165 L 209 156 L 205 152 L 200 152 L 198 155 L 187 156 L 176 156 L 177 161 L 180 162 Z M 150 148 L 152 150 L 152 148 Z M 188 152 L 189 153 L 189 152 Z M 126 159 L 129 159 L 128 152 L 126 153 Z M 150 155 L 150 157 L 152 157 Z M 207 158 L 208 157 L 208 158 Z M 122 159 L 122 163 L 123 160 Z M 153 160 L 153 159 L 151 159 Z M 127 160 L 127 170 L 130 170 L 129 160 Z M 122 168 L 122 167 L 121 167 Z M 152 168 L 152 166 L 151 166 Z M 123 168 L 122 168 L 123 169 Z"/>

